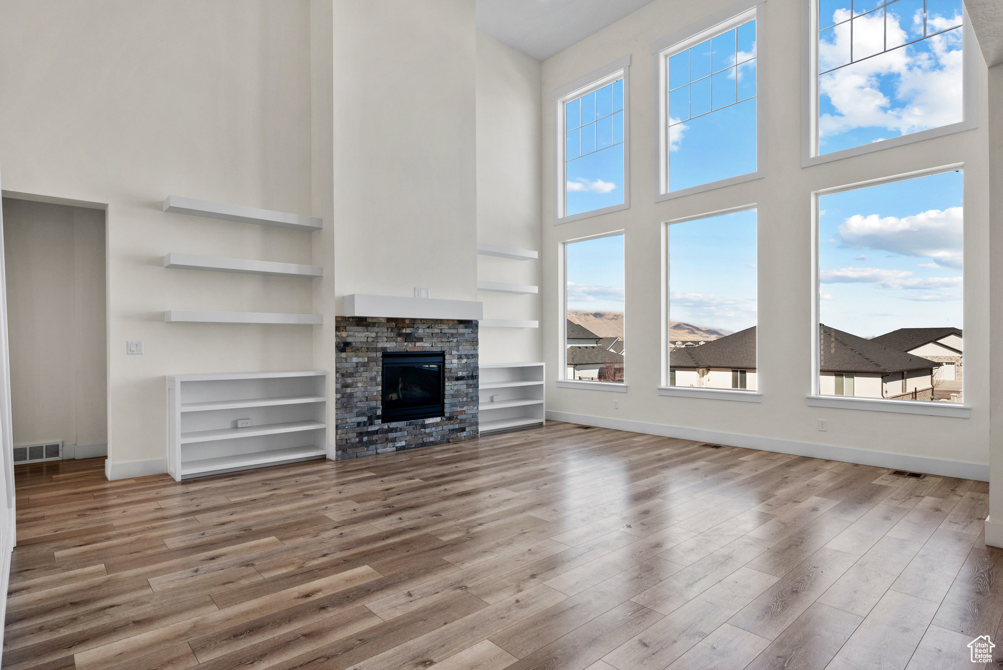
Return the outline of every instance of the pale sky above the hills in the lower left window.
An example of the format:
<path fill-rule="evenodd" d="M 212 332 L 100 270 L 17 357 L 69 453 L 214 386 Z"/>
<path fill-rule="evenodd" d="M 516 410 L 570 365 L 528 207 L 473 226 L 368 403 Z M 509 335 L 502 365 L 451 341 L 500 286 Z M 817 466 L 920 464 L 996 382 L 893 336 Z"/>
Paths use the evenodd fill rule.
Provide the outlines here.
<path fill-rule="evenodd" d="M 624 310 L 624 236 L 567 245 L 568 309 Z"/>

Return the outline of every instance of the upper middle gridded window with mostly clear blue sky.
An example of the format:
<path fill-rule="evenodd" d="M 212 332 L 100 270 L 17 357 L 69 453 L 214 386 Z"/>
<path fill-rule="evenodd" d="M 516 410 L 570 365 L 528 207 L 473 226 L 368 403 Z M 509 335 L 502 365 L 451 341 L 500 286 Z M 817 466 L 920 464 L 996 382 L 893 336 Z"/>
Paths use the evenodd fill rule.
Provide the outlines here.
<path fill-rule="evenodd" d="M 756 11 L 753 6 L 708 29 L 656 42 L 658 49 L 671 40 L 657 51 L 656 200 L 759 176 Z"/>

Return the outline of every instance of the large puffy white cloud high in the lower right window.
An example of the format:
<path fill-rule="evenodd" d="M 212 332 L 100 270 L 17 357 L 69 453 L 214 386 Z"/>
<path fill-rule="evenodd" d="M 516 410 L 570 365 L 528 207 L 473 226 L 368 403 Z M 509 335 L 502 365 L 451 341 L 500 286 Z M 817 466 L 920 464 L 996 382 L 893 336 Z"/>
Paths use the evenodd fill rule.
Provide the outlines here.
<path fill-rule="evenodd" d="M 855 214 L 840 224 L 837 235 L 845 248 L 932 258 L 940 266 L 961 269 L 963 229 L 963 208 L 949 207 L 902 218 Z"/>

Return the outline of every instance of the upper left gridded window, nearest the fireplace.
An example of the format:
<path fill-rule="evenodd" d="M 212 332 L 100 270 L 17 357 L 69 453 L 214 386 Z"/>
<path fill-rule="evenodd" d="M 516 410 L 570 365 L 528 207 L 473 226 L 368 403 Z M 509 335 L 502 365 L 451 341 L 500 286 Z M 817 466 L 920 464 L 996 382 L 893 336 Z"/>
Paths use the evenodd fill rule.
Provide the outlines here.
<path fill-rule="evenodd" d="M 628 206 L 628 64 L 618 61 L 555 91 L 558 223 Z"/>

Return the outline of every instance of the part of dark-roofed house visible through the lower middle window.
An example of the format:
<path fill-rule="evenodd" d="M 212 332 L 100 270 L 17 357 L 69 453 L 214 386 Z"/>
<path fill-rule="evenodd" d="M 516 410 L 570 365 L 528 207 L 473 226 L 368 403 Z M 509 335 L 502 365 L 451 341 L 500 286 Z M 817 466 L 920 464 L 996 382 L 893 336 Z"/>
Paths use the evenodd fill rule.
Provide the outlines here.
<path fill-rule="evenodd" d="M 753 391 L 755 326 L 669 353 L 669 386 Z"/>

